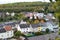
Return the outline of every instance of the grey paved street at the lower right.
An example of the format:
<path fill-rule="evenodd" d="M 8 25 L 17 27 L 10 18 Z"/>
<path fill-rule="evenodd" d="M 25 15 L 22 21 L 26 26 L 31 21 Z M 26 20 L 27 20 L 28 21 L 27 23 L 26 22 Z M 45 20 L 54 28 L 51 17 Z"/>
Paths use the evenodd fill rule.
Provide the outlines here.
<path fill-rule="evenodd" d="M 35 36 L 35 37 L 29 37 L 29 40 L 48 40 L 51 38 L 51 40 L 55 40 L 55 37 L 59 36 L 58 33 L 51 33 L 47 35 L 41 35 L 41 36 Z"/>

